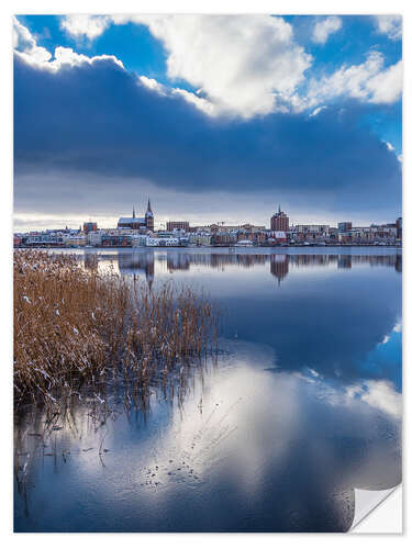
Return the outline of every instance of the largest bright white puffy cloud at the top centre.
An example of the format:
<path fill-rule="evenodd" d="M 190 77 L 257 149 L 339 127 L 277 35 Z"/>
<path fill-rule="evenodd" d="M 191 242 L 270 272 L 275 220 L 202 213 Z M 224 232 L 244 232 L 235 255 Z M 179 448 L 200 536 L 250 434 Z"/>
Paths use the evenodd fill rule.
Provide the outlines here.
<path fill-rule="evenodd" d="M 91 16 L 89 16 L 91 18 Z M 292 26 L 269 15 L 112 15 L 114 24 L 147 25 L 167 52 L 170 79 L 183 79 L 204 110 L 241 116 L 285 110 L 312 58 L 293 40 Z M 62 24 L 73 34 L 103 32 L 107 19 Z M 93 26 L 91 26 L 93 25 Z M 70 31 L 71 29 L 71 31 Z M 199 101 L 205 99 L 209 103 Z"/>

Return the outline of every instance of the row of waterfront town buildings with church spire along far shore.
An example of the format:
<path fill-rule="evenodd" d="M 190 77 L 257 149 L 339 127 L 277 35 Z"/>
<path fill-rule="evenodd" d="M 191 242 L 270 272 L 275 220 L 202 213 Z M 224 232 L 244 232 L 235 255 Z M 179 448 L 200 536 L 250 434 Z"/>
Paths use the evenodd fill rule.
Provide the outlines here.
<path fill-rule="evenodd" d="M 167 247 L 167 246 L 310 246 L 310 245 L 401 245 L 402 217 L 396 223 L 353 226 L 344 221 L 337 226 L 326 224 L 289 224 L 280 209 L 264 225 L 191 226 L 188 221 L 168 221 L 166 231 L 155 231 L 155 217 L 147 201 L 146 212 L 137 217 L 133 206 L 131 217 L 120 217 L 115 228 L 98 228 L 86 222 L 78 229 L 47 229 L 14 234 L 14 246 L 25 247 Z"/>

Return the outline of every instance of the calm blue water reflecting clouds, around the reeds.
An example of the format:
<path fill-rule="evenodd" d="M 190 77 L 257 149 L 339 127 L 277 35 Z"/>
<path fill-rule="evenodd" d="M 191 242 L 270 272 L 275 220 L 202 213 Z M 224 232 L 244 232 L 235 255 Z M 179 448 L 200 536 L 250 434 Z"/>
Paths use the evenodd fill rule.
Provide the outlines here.
<path fill-rule="evenodd" d="M 345 531 L 355 488 L 401 481 L 399 249 L 80 255 L 207 290 L 226 312 L 223 354 L 182 407 L 113 397 L 101 424 L 79 403 L 45 447 L 42 415 L 19 418 L 15 530 Z"/>

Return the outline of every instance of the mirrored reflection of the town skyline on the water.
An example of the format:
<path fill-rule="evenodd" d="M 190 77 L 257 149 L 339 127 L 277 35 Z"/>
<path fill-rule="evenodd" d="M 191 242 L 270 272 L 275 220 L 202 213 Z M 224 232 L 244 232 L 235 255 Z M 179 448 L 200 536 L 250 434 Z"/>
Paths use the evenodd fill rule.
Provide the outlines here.
<path fill-rule="evenodd" d="M 190 271 L 192 267 L 208 267 L 210 269 L 224 270 L 225 267 L 242 267 L 249 269 L 255 266 L 269 265 L 270 273 L 280 284 L 290 273 L 290 267 L 294 269 L 307 267 L 334 267 L 336 269 L 352 269 L 356 265 L 369 265 L 370 267 L 389 267 L 397 272 L 402 272 L 402 256 L 375 255 L 375 256 L 350 256 L 339 254 L 192 254 L 188 251 L 167 250 L 156 255 L 153 250 L 136 253 L 119 253 L 111 257 L 118 261 L 119 270 L 123 274 L 143 273 L 152 285 L 155 278 L 155 264 L 164 264 L 169 273 L 174 271 Z"/>

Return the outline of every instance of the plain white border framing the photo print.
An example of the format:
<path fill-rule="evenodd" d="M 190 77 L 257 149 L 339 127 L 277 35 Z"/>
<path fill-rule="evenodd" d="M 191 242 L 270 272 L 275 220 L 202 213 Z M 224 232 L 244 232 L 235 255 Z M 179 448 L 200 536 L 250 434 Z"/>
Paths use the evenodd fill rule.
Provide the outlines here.
<path fill-rule="evenodd" d="M 23 547 L 26 549 L 30 545 L 32 547 L 41 547 L 42 549 L 46 547 L 54 547 L 58 544 L 59 549 L 62 548 L 73 548 L 74 545 L 82 546 L 91 544 L 97 544 L 99 547 L 112 547 L 115 542 L 114 536 L 116 535 L 13 535 L 11 533 L 12 528 L 12 422 L 11 422 L 11 410 L 12 410 L 12 393 L 11 393 L 11 356 L 12 356 L 12 332 L 10 320 L 12 317 L 12 279 L 11 279 L 11 235 L 12 235 L 12 64 L 11 64 L 11 15 L 13 13 L 143 13 L 143 12 L 175 12 L 175 13 L 279 13 L 279 14 L 378 14 L 378 13 L 402 13 L 403 19 L 403 55 L 405 58 L 405 78 L 404 78 L 404 135 L 408 134 L 408 130 L 411 127 L 411 114 L 409 109 L 409 98 L 411 98 L 411 71 L 410 71 L 410 38 L 412 26 L 412 15 L 411 15 L 411 4 L 412 2 L 408 0 L 345 0 L 345 1 L 325 1 L 325 0 L 253 0 L 249 2 L 242 2 L 240 0 L 197 0 L 196 2 L 190 0 L 151 0 L 146 2 L 138 1 L 125 1 L 116 0 L 115 2 L 109 2 L 107 0 L 70 0 L 59 1 L 59 0 L 48 0 L 33 3 L 30 1 L 14 1 L 14 2 L 3 2 L 0 10 L 0 41 L 1 41 L 1 69 L 2 69 L 2 80 L 0 86 L 1 101 L 1 117 L 2 121 L 2 139 L 1 139 L 1 237 L 2 237 L 2 268 L 0 270 L 1 277 L 1 301 L 2 301 L 2 316 L 1 316 L 1 349 L 2 349 L 2 361 L 1 361 L 1 373 L 3 376 L 2 383 L 0 384 L 2 394 L 0 399 L 1 405 L 1 418 L 4 422 L 4 428 L 2 430 L 2 451 L 0 452 L 1 459 L 1 472 L 4 477 L 1 491 L 1 533 L 3 541 L 3 547 L 5 544 L 13 545 L 13 547 Z M 407 135 L 408 138 L 408 135 Z M 410 224 L 408 220 L 408 212 L 410 212 L 410 199 L 411 191 L 409 190 L 408 181 L 408 164 L 409 164 L 409 150 L 407 149 L 407 138 L 403 142 L 403 167 L 404 167 L 404 178 L 403 178 L 403 220 L 404 220 L 404 240 L 407 243 L 411 242 L 410 238 Z M 404 249 L 403 258 L 403 280 L 410 279 L 410 253 Z M 404 284 L 403 288 L 403 303 L 404 303 L 404 315 L 403 315 L 403 326 L 404 326 L 404 354 L 403 354 L 403 373 L 404 373 L 404 393 L 410 394 L 409 381 L 410 378 L 407 377 L 407 365 L 408 357 L 410 356 L 410 344 L 411 337 L 409 330 L 409 312 L 410 312 L 410 291 L 409 284 Z M 405 410 L 404 410 L 404 425 L 408 423 L 408 402 L 410 397 L 404 399 Z M 404 429 L 404 455 L 408 455 L 410 440 L 405 436 L 407 430 Z M 405 460 L 404 460 L 405 463 Z M 403 479 L 405 491 L 409 488 L 408 471 L 403 471 Z M 54 494 L 58 496 L 58 494 Z M 389 498 L 388 498 L 389 500 Z M 388 501 L 387 501 L 388 503 Z M 408 503 L 408 502 L 407 502 Z M 399 496 L 398 496 L 399 505 Z M 383 504 L 385 507 L 385 504 Z M 383 508 L 382 507 L 382 508 Z M 374 513 L 378 513 L 378 509 Z M 398 511 L 399 513 L 399 511 Z M 404 516 L 407 516 L 404 514 Z M 387 517 L 388 518 L 388 517 Z M 387 518 L 380 518 L 380 525 L 385 524 Z M 360 526 L 360 525 L 359 525 Z M 386 529 L 390 531 L 390 529 Z M 133 536 L 132 538 L 130 536 Z M 372 539 L 365 539 L 365 536 L 347 536 L 347 535 L 145 535 L 141 534 L 135 537 L 135 535 L 122 535 L 122 542 L 131 544 L 145 544 L 147 545 L 167 545 L 170 547 L 190 547 L 193 546 L 198 548 L 209 547 L 211 544 L 215 546 L 236 545 L 236 548 L 247 547 L 249 548 L 252 544 L 258 544 L 263 547 L 274 547 L 275 545 L 281 545 L 282 547 L 294 546 L 296 544 L 304 545 L 315 545 L 315 547 L 330 547 L 331 544 L 334 547 L 339 547 L 342 544 L 350 541 L 350 545 L 371 542 L 374 546 L 386 546 L 387 544 L 407 544 L 409 537 L 408 525 L 407 534 L 403 536 L 374 536 Z M 370 536 L 368 536 L 370 538 Z"/>

